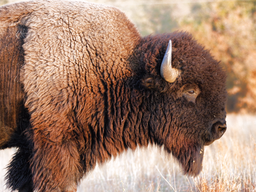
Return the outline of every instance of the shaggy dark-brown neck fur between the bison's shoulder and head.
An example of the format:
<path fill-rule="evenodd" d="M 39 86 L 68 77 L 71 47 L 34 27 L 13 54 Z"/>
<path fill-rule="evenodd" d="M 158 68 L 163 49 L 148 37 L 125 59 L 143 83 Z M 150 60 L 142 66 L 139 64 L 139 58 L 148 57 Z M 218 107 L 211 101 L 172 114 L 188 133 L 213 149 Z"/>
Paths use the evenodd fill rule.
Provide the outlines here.
<path fill-rule="evenodd" d="M 141 74 L 145 71 L 136 61 L 146 52 L 143 48 L 127 63 L 113 63 L 100 75 L 86 76 L 86 84 L 91 86 L 87 86 L 84 98 L 78 98 L 76 110 L 78 127 L 83 131 L 79 148 L 86 172 L 93 169 L 96 162 L 103 163 L 128 148 L 135 150 L 149 143 L 161 146 L 162 135 L 169 134 L 166 122 L 170 120 L 157 104 L 161 101 L 155 102 L 153 92 L 141 87 Z M 148 60 L 145 58 L 145 61 Z M 162 130 L 161 133 L 158 130 Z"/>

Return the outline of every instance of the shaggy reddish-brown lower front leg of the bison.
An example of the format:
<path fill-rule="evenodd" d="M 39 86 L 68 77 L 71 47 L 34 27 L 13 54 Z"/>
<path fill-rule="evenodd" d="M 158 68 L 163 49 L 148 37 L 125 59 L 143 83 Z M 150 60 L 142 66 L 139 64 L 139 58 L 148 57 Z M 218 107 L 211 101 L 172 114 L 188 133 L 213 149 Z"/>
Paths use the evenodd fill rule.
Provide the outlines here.
<path fill-rule="evenodd" d="M 37 140 L 37 138 L 35 138 Z M 38 140 L 32 159 L 34 189 L 38 192 L 75 192 L 82 167 L 76 144 Z"/>

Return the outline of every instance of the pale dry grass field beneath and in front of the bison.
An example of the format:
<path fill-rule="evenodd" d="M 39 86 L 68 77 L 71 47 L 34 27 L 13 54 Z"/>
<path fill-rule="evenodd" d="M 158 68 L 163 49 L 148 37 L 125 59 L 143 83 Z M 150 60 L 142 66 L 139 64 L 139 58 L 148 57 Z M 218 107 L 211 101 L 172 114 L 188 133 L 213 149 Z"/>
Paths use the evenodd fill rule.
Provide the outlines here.
<path fill-rule="evenodd" d="M 127 151 L 96 167 L 80 184 L 78 192 L 249 192 L 256 191 L 256 116 L 227 115 L 223 137 L 205 148 L 203 171 L 189 178 L 171 157 L 155 147 Z M 14 149 L 0 151 L 0 192 L 4 167 Z M 121 182 L 123 181 L 123 183 Z"/>

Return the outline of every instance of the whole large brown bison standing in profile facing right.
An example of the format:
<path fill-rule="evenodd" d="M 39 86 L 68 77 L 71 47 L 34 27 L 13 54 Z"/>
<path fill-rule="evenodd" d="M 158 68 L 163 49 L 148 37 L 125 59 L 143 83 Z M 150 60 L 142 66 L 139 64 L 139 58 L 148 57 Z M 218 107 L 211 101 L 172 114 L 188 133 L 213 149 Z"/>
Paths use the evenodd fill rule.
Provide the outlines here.
<path fill-rule="evenodd" d="M 183 173 L 226 130 L 226 73 L 180 31 L 141 37 L 114 7 L 35 0 L 0 8 L 0 148 L 12 190 L 74 192 L 96 163 L 155 144 Z"/>

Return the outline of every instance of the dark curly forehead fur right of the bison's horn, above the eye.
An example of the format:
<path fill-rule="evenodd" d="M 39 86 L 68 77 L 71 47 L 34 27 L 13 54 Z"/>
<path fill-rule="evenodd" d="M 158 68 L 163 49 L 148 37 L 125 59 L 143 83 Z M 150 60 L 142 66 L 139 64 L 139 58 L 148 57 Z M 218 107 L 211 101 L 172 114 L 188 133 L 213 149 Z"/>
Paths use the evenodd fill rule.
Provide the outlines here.
<path fill-rule="evenodd" d="M 176 32 L 173 42 L 172 66 L 180 70 L 181 84 L 196 83 L 200 89 L 216 94 L 226 92 L 226 72 L 203 45 L 191 34 Z"/>

